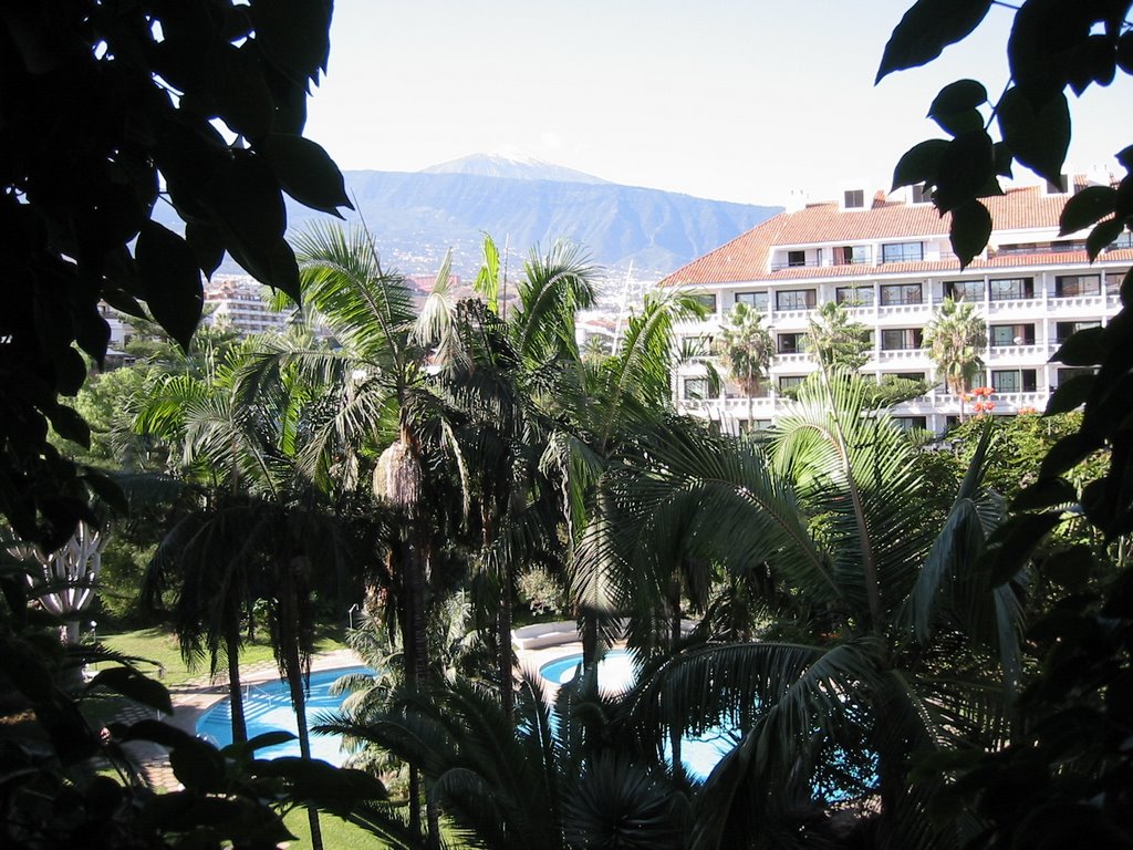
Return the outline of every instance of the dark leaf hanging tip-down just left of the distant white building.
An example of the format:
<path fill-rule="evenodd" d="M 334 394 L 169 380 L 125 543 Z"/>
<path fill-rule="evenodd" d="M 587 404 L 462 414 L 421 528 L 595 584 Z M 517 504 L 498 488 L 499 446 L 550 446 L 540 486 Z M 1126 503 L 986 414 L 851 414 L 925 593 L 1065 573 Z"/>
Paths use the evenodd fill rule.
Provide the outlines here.
<path fill-rule="evenodd" d="M 142 227 L 135 253 L 150 312 L 188 350 L 204 307 L 196 257 L 181 237 L 154 221 Z"/>

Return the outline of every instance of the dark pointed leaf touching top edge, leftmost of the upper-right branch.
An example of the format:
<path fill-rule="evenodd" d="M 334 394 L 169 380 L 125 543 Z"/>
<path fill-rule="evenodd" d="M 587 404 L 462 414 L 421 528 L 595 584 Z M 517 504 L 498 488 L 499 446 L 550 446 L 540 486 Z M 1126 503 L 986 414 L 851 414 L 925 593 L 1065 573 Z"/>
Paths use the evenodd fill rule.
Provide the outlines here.
<path fill-rule="evenodd" d="M 991 0 L 918 0 L 893 29 L 875 82 L 936 59 L 966 37 L 990 8 Z"/>

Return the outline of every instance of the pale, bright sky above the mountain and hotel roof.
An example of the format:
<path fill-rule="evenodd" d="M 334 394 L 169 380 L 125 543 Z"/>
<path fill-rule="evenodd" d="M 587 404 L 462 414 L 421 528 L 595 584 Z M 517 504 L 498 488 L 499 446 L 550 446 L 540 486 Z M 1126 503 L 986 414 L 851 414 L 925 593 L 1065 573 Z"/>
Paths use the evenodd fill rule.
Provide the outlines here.
<path fill-rule="evenodd" d="M 944 85 L 971 77 L 994 97 L 1007 80 L 1012 12 L 997 6 L 965 43 L 875 86 L 911 2 L 337 0 L 306 135 L 343 170 L 508 151 L 741 203 L 888 189 L 904 151 L 944 135 L 925 119 Z M 1071 164 L 1133 139 L 1131 94 L 1126 79 L 1071 95 Z"/>

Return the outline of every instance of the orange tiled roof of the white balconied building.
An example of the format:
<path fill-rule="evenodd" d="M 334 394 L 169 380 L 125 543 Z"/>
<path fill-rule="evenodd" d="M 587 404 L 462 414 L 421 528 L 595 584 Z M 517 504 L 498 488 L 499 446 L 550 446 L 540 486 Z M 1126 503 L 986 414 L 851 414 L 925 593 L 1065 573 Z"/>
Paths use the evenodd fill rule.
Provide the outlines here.
<path fill-rule="evenodd" d="M 1065 195 L 1046 195 L 1038 186 L 1008 189 L 1005 195 L 985 198 L 995 229 L 1026 230 L 1058 227 Z M 790 267 L 769 272 L 768 255 L 776 247 L 833 243 L 852 245 L 876 239 L 943 237 L 948 235 L 951 215 L 943 218 L 931 204 L 906 204 L 878 196 L 869 210 L 842 210 L 836 203 L 811 204 L 803 210 L 780 213 L 702 257 L 678 269 L 659 286 L 725 283 L 739 280 L 792 280 L 816 277 L 860 277 L 866 267 L 876 273 L 959 270 L 955 260 L 885 263 L 880 266 L 832 265 Z M 1124 252 L 1122 252 L 1124 253 Z M 1123 258 L 1113 256 L 1113 258 Z M 1034 254 L 974 261 L 969 267 L 1085 262 L 1085 253 Z"/>

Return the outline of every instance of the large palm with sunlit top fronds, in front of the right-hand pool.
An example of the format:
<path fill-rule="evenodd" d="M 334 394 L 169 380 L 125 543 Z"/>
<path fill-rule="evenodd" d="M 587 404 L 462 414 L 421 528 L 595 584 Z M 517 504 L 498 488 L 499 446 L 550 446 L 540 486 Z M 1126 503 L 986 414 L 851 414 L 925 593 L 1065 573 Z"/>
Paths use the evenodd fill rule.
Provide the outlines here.
<path fill-rule="evenodd" d="M 875 796 L 884 841 L 919 845 L 939 783 L 910 781 L 911 754 L 1006 736 L 1020 588 L 976 568 L 1002 512 L 979 490 L 982 450 L 937 516 L 914 450 L 866 415 L 867 397 L 835 374 L 800 392 L 767 451 L 690 432 L 622 460 L 611 547 L 767 564 L 790 588 L 782 637 L 685 648 L 629 698 L 631 728 L 654 747 L 674 725 L 726 717 L 739 730 L 705 785 L 693 847 L 798 839 L 792 811 L 820 811 L 816 784 Z"/>

